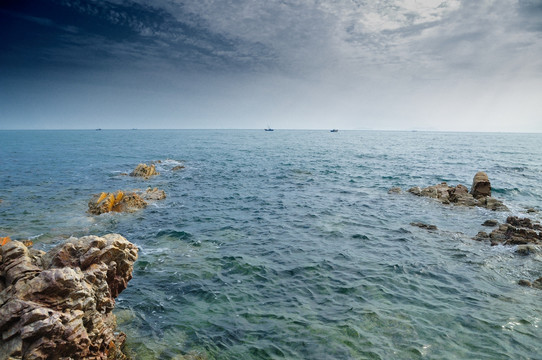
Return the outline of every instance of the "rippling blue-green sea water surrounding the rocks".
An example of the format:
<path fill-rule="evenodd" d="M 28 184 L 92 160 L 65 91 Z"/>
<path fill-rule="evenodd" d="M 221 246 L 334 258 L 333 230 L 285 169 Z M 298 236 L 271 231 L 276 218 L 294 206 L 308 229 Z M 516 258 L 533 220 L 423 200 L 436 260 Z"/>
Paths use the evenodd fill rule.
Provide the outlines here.
<path fill-rule="evenodd" d="M 541 209 L 542 134 L 0 131 L 0 235 L 49 249 L 120 233 L 140 249 L 117 299 L 135 359 L 535 359 L 541 255 L 472 237 Z M 149 180 L 122 176 L 162 160 Z M 172 171 L 178 164 L 186 168 Z M 510 212 L 408 193 L 486 171 Z M 91 194 L 158 187 L 133 214 Z M 434 224 L 438 231 L 412 227 Z M 188 356 L 187 356 L 188 358 Z"/>

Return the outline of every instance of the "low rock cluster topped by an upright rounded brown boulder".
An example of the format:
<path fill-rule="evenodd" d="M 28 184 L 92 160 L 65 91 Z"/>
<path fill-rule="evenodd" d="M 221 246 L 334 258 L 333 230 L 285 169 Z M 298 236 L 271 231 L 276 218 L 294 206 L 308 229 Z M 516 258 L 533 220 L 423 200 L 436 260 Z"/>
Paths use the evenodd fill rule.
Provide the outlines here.
<path fill-rule="evenodd" d="M 408 192 L 437 199 L 443 204 L 479 206 L 499 211 L 508 210 L 502 201 L 491 197 L 491 184 L 484 172 L 476 173 L 470 191 L 465 185 L 449 186 L 446 182 L 443 182 L 423 189 L 416 186 L 410 188 Z"/>

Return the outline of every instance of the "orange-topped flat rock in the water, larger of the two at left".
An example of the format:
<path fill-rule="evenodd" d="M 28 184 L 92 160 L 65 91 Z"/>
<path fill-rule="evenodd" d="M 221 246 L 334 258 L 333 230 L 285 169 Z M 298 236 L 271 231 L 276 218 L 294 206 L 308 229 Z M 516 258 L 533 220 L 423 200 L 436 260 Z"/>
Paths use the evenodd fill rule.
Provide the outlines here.
<path fill-rule="evenodd" d="M 133 190 L 129 192 L 94 194 L 88 202 L 88 212 L 100 215 L 108 212 L 134 212 L 147 207 L 148 202 L 166 198 L 164 190 L 157 188 L 146 191 Z"/>

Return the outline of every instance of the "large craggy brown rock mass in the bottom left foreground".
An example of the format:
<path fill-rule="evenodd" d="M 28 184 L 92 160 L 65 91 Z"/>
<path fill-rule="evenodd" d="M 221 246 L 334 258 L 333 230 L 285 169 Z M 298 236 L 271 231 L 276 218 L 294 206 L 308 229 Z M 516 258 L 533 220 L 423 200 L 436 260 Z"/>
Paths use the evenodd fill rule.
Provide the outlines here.
<path fill-rule="evenodd" d="M 136 259 L 118 234 L 1 246 L 0 359 L 125 359 L 112 310 Z"/>

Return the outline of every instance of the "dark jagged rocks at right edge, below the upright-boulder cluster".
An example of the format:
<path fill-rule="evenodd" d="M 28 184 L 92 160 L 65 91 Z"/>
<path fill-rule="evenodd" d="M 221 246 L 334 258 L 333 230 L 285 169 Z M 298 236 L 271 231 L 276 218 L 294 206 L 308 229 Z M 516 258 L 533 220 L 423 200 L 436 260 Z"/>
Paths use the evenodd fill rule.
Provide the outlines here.
<path fill-rule="evenodd" d="M 491 245 L 542 245 L 542 226 L 528 218 L 509 216 L 505 224 L 500 224 L 487 234 L 480 231 L 476 240 L 489 240 Z"/>

